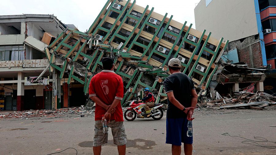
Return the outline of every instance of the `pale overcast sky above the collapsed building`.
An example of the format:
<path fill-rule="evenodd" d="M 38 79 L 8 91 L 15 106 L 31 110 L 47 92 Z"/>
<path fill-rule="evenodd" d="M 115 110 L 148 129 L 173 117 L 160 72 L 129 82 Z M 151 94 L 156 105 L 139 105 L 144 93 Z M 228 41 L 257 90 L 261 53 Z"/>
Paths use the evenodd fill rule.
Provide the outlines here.
<path fill-rule="evenodd" d="M 131 0 L 133 2 L 133 0 Z M 200 0 L 136 0 L 136 5 L 149 9 L 180 23 L 187 21 L 195 28 L 194 8 Z M 0 15 L 54 14 L 64 24 L 74 24 L 80 31 L 89 29 L 106 0 L 2 0 Z"/>

